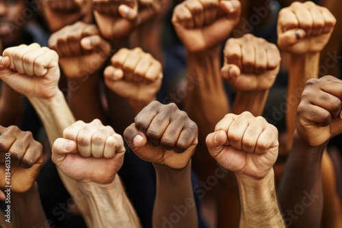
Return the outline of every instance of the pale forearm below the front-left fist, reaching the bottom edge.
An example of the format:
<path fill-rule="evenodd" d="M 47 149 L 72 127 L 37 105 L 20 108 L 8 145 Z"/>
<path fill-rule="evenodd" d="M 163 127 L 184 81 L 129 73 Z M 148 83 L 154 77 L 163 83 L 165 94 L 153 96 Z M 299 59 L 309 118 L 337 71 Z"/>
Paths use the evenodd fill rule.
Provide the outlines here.
<path fill-rule="evenodd" d="M 77 188 L 86 196 L 92 227 L 141 227 L 118 175 L 111 184 L 78 182 Z"/>

